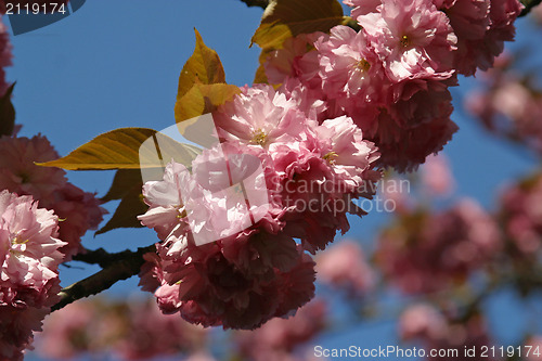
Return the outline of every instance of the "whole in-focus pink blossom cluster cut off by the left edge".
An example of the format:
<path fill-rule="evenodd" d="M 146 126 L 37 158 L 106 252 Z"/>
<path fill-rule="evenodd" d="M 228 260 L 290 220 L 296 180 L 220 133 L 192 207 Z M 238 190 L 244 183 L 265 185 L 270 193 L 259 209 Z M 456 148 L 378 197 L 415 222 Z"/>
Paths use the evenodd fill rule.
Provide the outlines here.
<path fill-rule="evenodd" d="M 59 301 L 59 265 L 105 210 L 64 170 L 35 164 L 59 157 L 44 137 L 3 136 L 0 154 L 0 360 L 18 360 Z"/>

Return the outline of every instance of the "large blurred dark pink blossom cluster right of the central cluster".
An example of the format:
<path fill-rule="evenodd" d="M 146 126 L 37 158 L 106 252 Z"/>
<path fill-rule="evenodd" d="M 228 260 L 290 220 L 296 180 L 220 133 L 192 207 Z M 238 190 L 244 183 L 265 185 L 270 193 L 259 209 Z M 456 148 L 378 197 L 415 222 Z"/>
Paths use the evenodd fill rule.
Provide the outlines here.
<path fill-rule="evenodd" d="M 430 214 L 399 215 L 378 238 L 376 260 L 385 276 L 411 294 L 463 284 L 502 249 L 495 221 L 470 199 Z"/>

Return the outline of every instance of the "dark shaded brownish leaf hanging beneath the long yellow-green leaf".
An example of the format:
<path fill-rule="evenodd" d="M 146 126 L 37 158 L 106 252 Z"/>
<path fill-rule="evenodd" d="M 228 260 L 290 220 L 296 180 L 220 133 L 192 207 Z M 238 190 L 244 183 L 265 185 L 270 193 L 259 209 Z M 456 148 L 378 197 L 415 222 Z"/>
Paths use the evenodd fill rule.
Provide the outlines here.
<path fill-rule="evenodd" d="M 95 235 L 108 232 L 117 228 L 142 228 L 138 216 L 143 215 L 149 206 L 143 202 L 141 195 L 142 183 L 134 184 L 128 189 L 122 201 L 107 224 L 96 231 Z"/>

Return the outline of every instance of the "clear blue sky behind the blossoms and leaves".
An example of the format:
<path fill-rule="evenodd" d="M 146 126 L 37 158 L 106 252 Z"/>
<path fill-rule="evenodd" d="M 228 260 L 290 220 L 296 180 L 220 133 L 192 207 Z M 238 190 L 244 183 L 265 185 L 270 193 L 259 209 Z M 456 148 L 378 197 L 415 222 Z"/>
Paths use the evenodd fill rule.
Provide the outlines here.
<path fill-rule="evenodd" d="M 261 9 L 249 9 L 238 0 L 87 1 L 61 22 L 13 37 L 14 65 L 8 69 L 8 79 L 17 81 L 13 101 L 17 121 L 24 125 L 21 134 L 41 132 L 61 155 L 66 155 L 115 128 L 171 126 L 178 76 L 193 51 L 194 27 L 220 55 L 228 81 L 243 86 L 251 82 L 257 67 L 259 50 L 248 46 L 261 13 Z M 525 20 L 519 27 L 519 36 L 531 31 Z M 540 59 L 540 51 L 535 56 Z M 456 99 L 464 98 L 473 85 L 470 79 L 462 82 L 453 90 Z M 460 102 L 455 106 L 453 119 L 461 130 L 444 153 L 451 159 L 457 194 L 475 197 L 490 207 L 500 184 L 528 172 L 535 160 L 486 136 L 464 116 Z M 69 179 L 86 191 L 103 195 L 112 176 L 113 172 L 70 172 Z M 352 219 L 349 235 L 367 241 L 382 221 L 378 215 Z M 85 245 L 121 250 L 154 241 L 155 234 L 150 230 L 118 230 L 95 238 L 88 235 Z M 63 284 L 93 270 L 64 269 Z M 124 282 L 111 293 L 134 289 L 136 283 Z M 491 307 L 495 314 L 501 314 L 516 301 L 504 295 Z M 511 320 L 498 315 L 493 322 L 503 325 Z M 393 324 L 354 328 L 322 341 L 347 345 L 356 340 L 377 346 L 391 339 Z"/>

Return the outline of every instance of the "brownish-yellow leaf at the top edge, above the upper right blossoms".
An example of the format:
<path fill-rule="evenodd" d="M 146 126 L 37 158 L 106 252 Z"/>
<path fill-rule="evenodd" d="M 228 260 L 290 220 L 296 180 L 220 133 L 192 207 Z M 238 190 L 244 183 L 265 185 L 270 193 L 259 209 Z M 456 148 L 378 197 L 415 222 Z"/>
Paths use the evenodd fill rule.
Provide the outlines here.
<path fill-rule="evenodd" d="M 272 0 L 251 43 L 262 49 L 280 49 L 289 37 L 326 33 L 343 21 L 343 7 L 337 0 Z"/>

